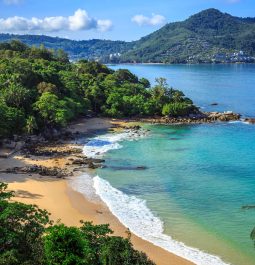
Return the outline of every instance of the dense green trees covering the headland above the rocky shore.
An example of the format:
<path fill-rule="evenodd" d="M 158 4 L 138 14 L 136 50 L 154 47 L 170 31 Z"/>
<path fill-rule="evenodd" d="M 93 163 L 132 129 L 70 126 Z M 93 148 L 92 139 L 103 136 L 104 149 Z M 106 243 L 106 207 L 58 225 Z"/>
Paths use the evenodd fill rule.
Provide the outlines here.
<path fill-rule="evenodd" d="M 175 112 L 167 104 L 178 103 Z M 128 70 L 113 71 L 97 62 L 70 63 L 62 50 L 0 44 L 0 138 L 65 126 L 92 112 L 109 117 L 186 115 L 190 99 L 157 79 L 150 87 Z M 168 108 L 169 109 L 169 108 Z"/>

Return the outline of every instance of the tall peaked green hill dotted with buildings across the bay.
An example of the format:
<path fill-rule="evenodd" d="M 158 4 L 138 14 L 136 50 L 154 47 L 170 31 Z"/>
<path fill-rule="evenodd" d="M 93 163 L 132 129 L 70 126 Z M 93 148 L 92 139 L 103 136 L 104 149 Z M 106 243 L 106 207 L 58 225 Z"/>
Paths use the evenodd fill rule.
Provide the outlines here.
<path fill-rule="evenodd" d="M 243 53 L 233 55 L 239 51 Z M 208 9 L 140 39 L 122 60 L 185 63 L 217 61 L 224 56 L 225 60 L 227 57 L 248 60 L 254 55 L 255 19 Z"/>

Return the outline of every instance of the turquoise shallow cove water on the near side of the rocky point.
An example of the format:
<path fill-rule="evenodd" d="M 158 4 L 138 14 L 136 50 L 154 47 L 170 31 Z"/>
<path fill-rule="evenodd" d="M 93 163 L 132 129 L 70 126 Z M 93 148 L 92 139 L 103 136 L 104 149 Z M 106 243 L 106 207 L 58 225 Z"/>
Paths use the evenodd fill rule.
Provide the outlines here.
<path fill-rule="evenodd" d="M 146 200 L 163 221 L 165 234 L 232 264 L 254 264 L 249 235 L 255 211 L 241 208 L 255 204 L 255 127 L 148 128 L 149 136 L 124 141 L 122 148 L 106 153 L 107 168 L 98 175 L 123 193 Z M 146 169 L 116 170 L 127 166 Z M 141 215 L 132 225 L 142 225 L 144 219 Z"/>

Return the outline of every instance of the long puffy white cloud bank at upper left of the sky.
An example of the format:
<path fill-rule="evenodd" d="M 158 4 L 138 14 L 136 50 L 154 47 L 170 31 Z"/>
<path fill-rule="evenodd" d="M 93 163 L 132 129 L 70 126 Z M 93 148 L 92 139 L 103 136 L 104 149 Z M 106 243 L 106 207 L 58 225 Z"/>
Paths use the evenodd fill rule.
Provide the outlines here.
<path fill-rule="evenodd" d="M 78 9 L 72 16 L 45 17 L 31 19 L 24 17 L 0 18 L 0 31 L 4 32 L 58 32 L 96 29 L 108 31 L 112 28 L 110 20 L 98 20 L 90 17 L 85 10 Z"/>

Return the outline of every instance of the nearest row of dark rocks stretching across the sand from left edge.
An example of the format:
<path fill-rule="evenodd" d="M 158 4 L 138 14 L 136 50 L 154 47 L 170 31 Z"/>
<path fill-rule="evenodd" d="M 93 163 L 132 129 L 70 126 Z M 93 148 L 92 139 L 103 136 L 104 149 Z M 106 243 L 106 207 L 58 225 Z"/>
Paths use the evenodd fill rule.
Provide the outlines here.
<path fill-rule="evenodd" d="M 63 170 L 57 167 L 44 167 L 44 166 L 25 166 L 25 167 L 13 167 L 1 170 L 0 173 L 9 174 L 39 174 L 41 176 L 49 176 L 56 178 L 65 178 L 71 176 L 67 170 Z"/>

